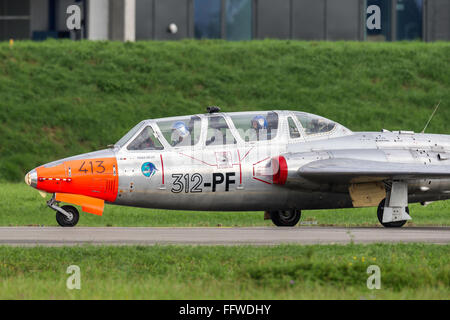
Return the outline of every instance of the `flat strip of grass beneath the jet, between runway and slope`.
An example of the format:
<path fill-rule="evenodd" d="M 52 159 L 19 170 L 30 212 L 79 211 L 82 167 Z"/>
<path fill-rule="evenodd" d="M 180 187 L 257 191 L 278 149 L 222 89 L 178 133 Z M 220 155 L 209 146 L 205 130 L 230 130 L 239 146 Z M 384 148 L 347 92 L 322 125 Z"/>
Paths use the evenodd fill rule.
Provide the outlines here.
<path fill-rule="evenodd" d="M 48 198 L 48 197 L 47 197 Z M 55 212 L 36 190 L 25 183 L 0 184 L 0 226 L 56 226 Z M 450 201 L 426 207 L 410 206 L 413 220 L 406 226 L 450 226 Z M 81 209 L 80 209 L 81 213 Z M 302 212 L 302 225 L 380 226 L 376 208 L 309 210 Z M 106 205 L 103 216 L 81 213 L 78 226 L 272 226 L 262 212 L 196 212 L 141 209 Z"/>

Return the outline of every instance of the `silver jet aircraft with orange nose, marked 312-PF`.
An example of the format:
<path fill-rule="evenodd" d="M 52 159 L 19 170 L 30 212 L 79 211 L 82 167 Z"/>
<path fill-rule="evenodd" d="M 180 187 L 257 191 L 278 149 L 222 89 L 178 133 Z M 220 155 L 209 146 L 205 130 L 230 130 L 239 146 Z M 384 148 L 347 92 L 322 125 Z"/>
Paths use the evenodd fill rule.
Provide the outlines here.
<path fill-rule="evenodd" d="M 108 149 L 31 170 L 28 185 L 63 227 L 104 204 L 175 210 L 265 211 L 295 226 L 301 210 L 378 207 L 385 227 L 411 219 L 408 204 L 450 199 L 450 136 L 352 132 L 298 111 L 144 120 Z M 60 206 L 60 202 L 72 205 Z"/>

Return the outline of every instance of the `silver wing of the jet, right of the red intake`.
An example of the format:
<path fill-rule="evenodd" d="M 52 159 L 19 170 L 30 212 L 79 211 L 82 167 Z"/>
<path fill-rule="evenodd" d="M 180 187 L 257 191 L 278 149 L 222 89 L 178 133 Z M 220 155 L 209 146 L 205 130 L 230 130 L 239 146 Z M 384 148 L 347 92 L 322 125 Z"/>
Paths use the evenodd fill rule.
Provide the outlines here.
<path fill-rule="evenodd" d="M 386 179 L 450 178 L 450 165 L 392 163 L 359 159 L 325 159 L 310 162 L 298 174 L 315 181 L 372 182 Z"/>

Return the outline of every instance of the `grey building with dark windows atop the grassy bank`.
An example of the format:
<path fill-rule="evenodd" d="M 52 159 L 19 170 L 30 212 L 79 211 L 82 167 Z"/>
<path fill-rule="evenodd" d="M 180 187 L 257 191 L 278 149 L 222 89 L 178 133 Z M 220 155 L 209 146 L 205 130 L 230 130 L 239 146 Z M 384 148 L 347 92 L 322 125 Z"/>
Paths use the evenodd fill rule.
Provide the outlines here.
<path fill-rule="evenodd" d="M 79 31 L 66 26 L 72 4 Z M 449 0 L 0 0 L 0 40 L 435 41 L 450 40 L 449 21 Z"/>

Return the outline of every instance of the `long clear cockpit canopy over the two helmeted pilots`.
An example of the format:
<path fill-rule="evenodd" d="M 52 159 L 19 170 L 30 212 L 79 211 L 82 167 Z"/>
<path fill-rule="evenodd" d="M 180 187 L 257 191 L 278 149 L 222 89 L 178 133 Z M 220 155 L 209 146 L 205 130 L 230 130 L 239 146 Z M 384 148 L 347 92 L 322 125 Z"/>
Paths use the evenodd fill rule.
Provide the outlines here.
<path fill-rule="evenodd" d="M 288 129 L 283 130 L 285 126 Z M 289 132 L 288 136 L 284 132 Z M 280 139 L 300 142 L 348 134 L 351 131 L 340 124 L 306 112 L 213 113 L 142 121 L 115 146 L 126 146 L 130 151 L 163 150 L 199 144 L 214 147 Z"/>

